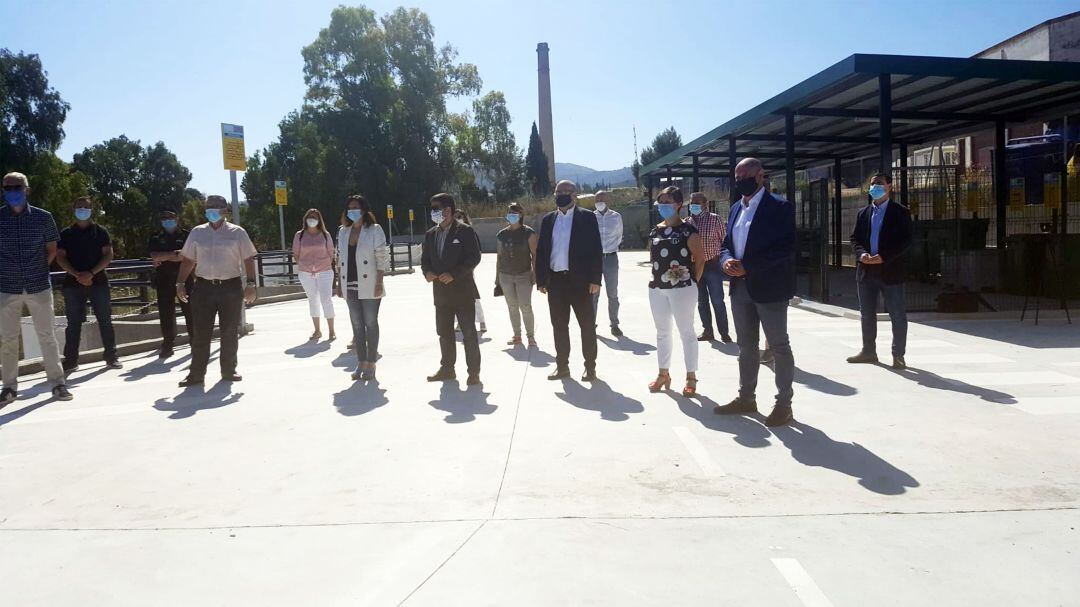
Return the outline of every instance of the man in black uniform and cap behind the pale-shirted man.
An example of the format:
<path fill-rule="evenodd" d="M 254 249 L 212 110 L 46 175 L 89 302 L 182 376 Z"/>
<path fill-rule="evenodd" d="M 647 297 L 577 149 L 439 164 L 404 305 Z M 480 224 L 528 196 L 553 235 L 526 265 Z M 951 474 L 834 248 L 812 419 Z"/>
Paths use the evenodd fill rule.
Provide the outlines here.
<path fill-rule="evenodd" d="M 176 345 L 176 282 L 180 275 L 180 249 L 188 239 L 188 231 L 179 227 L 175 211 L 165 210 L 161 212 L 161 231 L 150 237 L 150 259 L 153 260 L 153 286 L 158 292 L 158 322 L 161 324 L 161 351 L 159 355 L 167 359 L 173 355 L 173 347 Z M 194 276 L 188 276 L 185 288 L 190 291 L 194 283 Z M 191 339 L 191 329 L 194 328 L 191 322 L 191 306 L 187 301 L 179 301 L 180 312 L 184 314 L 184 326 L 188 331 L 188 340 Z"/>

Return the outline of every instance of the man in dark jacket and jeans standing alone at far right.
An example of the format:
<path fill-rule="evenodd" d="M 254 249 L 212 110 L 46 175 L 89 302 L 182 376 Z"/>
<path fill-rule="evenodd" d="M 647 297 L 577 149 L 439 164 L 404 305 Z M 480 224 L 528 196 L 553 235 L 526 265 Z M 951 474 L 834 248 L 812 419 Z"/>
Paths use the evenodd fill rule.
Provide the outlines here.
<path fill-rule="evenodd" d="M 877 300 L 885 297 L 885 309 L 892 320 L 892 366 L 907 366 L 907 311 L 904 301 L 904 254 L 912 245 L 912 214 L 902 204 L 890 202 L 892 178 L 878 173 L 870 178 L 872 204 L 859 212 L 851 232 L 851 248 L 859 259 L 855 283 L 859 285 L 859 313 L 863 321 L 863 351 L 849 356 L 849 363 L 876 363 Z"/>

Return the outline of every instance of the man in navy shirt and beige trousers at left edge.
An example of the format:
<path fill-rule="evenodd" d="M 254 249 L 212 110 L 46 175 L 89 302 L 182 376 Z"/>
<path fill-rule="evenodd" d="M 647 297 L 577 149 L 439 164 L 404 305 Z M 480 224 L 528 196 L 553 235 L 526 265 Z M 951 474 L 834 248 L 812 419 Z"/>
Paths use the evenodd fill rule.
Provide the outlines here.
<path fill-rule="evenodd" d="M 60 239 L 51 213 L 27 202 L 30 184 L 22 173 L 3 176 L 3 202 L 0 206 L 0 366 L 3 390 L 0 407 L 18 397 L 18 337 L 23 306 L 30 311 L 33 329 L 41 347 L 45 377 L 53 386 L 53 397 L 70 401 L 64 385 L 60 351 L 56 343 L 56 318 L 49 266 L 56 258 Z"/>

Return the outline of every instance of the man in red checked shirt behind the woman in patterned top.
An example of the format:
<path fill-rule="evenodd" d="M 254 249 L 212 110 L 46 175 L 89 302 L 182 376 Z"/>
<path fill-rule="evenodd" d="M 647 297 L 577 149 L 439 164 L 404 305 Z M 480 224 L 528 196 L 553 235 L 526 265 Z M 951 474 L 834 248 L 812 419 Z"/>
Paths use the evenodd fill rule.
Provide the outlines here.
<path fill-rule="evenodd" d="M 704 193 L 693 192 L 690 194 L 690 217 L 687 222 L 698 228 L 705 249 L 705 271 L 702 272 L 701 281 L 698 283 L 698 313 L 705 331 L 698 336 L 698 340 L 712 341 L 716 338 L 713 333 L 713 313 L 708 307 L 712 301 L 713 309 L 716 310 L 716 327 L 720 331 L 720 339 L 725 343 L 730 343 L 728 310 L 724 307 L 725 276 L 724 270 L 720 269 L 720 245 L 727 235 L 724 219 L 712 212 Z"/>

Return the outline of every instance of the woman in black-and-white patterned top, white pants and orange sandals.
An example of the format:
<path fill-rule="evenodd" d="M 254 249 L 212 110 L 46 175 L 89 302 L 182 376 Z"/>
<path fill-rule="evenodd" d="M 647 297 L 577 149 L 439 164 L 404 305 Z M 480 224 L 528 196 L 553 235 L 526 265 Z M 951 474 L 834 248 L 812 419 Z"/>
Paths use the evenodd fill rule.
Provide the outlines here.
<path fill-rule="evenodd" d="M 683 360 L 686 363 L 684 396 L 698 393 L 698 336 L 693 328 L 694 310 L 698 308 L 698 281 L 705 269 L 705 252 L 698 229 L 683 221 L 683 192 L 670 186 L 660 192 L 657 211 L 660 224 L 649 233 L 649 253 L 652 259 L 652 280 L 649 282 L 649 308 L 657 325 L 657 358 L 660 373 L 649 383 L 650 392 L 671 388 L 669 373 L 672 364 L 674 339 L 672 320 L 683 341 Z"/>

